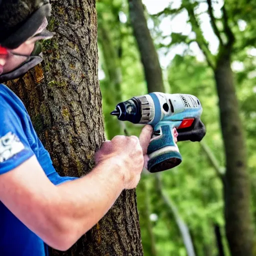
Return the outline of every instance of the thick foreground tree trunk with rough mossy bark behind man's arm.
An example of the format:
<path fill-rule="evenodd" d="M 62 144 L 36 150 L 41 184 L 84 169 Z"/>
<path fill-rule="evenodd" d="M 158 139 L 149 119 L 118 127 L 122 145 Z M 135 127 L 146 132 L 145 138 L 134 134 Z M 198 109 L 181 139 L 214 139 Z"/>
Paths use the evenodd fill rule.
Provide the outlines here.
<path fill-rule="evenodd" d="M 95 0 L 52 1 L 49 29 L 56 34 L 44 42 L 43 66 L 8 85 L 27 107 L 56 170 L 81 176 L 104 139 Z M 135 190 L 124 190 L 71 249 L 50 254 L 142 255 Z"/>

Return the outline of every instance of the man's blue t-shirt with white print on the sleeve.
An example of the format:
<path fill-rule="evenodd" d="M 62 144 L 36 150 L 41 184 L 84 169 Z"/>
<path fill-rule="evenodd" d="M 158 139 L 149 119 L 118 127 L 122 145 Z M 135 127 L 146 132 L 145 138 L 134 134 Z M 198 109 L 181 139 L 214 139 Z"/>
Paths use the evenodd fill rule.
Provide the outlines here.
<path fill-rule="evenodd" d="M 0 174 L 32 155 L 53 184 L 75 179 L 57 174 L 21 100 L 0 84 Z M 32 171 L 32 170 L 31 170 Z M 47 245 L 0 202 L 0 255 L 45 256 Z"/>

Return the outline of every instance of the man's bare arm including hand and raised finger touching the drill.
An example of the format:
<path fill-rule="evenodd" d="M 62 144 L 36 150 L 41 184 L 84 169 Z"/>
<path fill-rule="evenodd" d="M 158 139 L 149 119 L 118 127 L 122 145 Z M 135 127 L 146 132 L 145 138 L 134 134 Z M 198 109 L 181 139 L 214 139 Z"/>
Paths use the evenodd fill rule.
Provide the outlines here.
<path fill-rule="evenodd" d="M 124 188 L 137 185 L 151 131 L 149 125 L 144 127 L 141 146 L 134 136 L 104 142 L 89 174 L 58 186 L 33 156 L 0 175 L 0 200 L 44 242 L 66 250 L 108 211 Z"/>

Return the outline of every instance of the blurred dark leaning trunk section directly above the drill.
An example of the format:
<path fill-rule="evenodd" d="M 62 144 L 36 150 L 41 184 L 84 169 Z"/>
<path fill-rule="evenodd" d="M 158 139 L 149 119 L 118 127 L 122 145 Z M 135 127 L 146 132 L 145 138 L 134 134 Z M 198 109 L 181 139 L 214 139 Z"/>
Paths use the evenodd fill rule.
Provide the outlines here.
<path fill-rule="evenodd" d="M 141 0 L 128 0 L 129 16 L 144 67 L 148 92 L 164 92 L 162 70 L 147 27 Z"/>

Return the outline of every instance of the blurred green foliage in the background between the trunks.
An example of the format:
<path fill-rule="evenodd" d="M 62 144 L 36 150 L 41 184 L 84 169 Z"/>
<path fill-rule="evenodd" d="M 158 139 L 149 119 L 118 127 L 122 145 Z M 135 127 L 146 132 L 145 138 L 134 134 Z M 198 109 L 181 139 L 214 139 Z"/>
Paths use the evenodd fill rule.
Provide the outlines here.
<path fill-rule="evenodd" d="M 187 1 L 183 1 L 185 3 Z M 235 73 L 237 96 L 240 103 L 240 114 L 246 132 L 248 151 L 248 167 L 252 184 L 251 210 L 256 217 L 256 2 L 253 0 L 227 0 L 228 20 L 236 37 L 234 54 L 232 55 Z M 157 3 L 155 3 L 157 4 Z M 193 1 L 199 6 L 201 2 Z M 190 33 L 183 31 L 162 35 L 161 21 L 166 16 L 179 15 L 183 6 L 171 8 L 171 4 L 157 15 L 150 15 L 145 8 L 148 20 L 153 21 L 152 37 L 159 50 L 164 47 L 168 53 L 177 44 L 183 45 L 182 53 L 176 53 L 169 60 L 169 65 L 163 69 L 167 73 L 167 83 L 171 93 L 190 93 L 196 95 L 203 106 L 202 121 L 207 128 L 204 141 L 218 160 L 219 166 L 224 166 L 223 142 L 219 126 L 217 95 L 214 85 L 212 69 L 207 62 L 198 59 L 192 51 L 194 39 Z M 216 7 L 217 8 L 217 7 Z M 203 7 L 202 7 L 203 9 Z M 121 100 L 134 95 L 147 93 L 146 83 L 140 57 L 128 20 L 128 7 L 125 0 L 98 0 L 98 48 L 99 48 L 99 78 L 102 91 L 102 102 L 106 136 L 112 137 L 112 130 L 120 134 L 123 124 L 117 118 L 110 117 L 109 111 Z M 198 15 L 199 16 L 199 15 Z M 221 28 L 221 16 L 216 17 L 216 24 Z M 189 20 L 187 20 L 189 22 Z M 240 27 L 239 24 L 243 24 Z M 111 49 L 102 37 L 102 28 L 111 40 Z M 221 29 L 220 29 L 221 30 Z M 170 36 L 171 42 L 165 43 Z M 221 34 L 221 36 L 223 36 Z M 224 40 L 224 38 L 223 38 Z M 103 45 L 107 43 L 107 45 Z M 206 42 L 211 43 L 209 42 Z M 110 44 L 109 44 L 110 45 Z M 111 60 L 115 64 L 108 64 L 107 49 L 111 53 Z M 108 52 L 108 53 L 109 53 Z M 214 54 L 217 54 L 215 52 Z M 212 54 L 214 56 L 214 54 Z M 109 55 L 109 54 L 108 54 Z M 241 68 L 235 68 L 241 66 Z M 109 70 L 109 69 L 118 69 Z M 118 73 L 119 83 L 113 81 L 109 73 Z M 111 119 L 112 118 L 112 119 Z M 129 134 L 139 135 L 140 125 L 125 122 Z M 112 128 L 111 128 L 112 127 Z M 111 135 L 109 135 L 111 134 Z M 117 135 L 117 134 L 116 134 Z M 187 224 L 192 236 L 196 255 L 217 256 L 214 224 L 220 226 L 225 255 L 228 248 L 224 235 L 222 183 L 216 175 L 215 169 L 209 162 L 205 151 L 199 143 L 181 142 L 178 144 L 183 161 L 169 170 L 162 172 L 162 189 L 176 206 L 179 215 Z M 237 145 L 239 146 L 239 145 Z M 186 250 L 175 222 L 173 214 L 157 193 L 154 174 L 145 172 L 137 187 L 138 210 L 140 214 L 141 237 L 144 255 L 153 255 L 152 241 L 155 242 L 158 256 L 185 256 Z M 151 221 L 148 224 L 148 221 Z M 149 229 L 152 228 L 150 238 Z"/>

